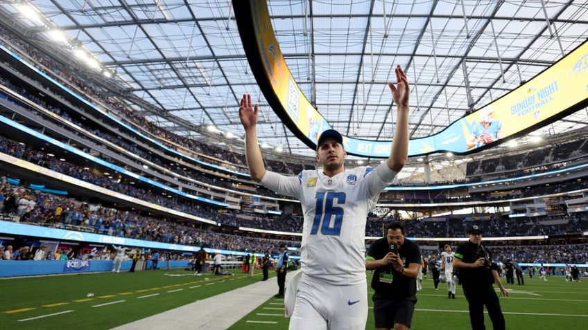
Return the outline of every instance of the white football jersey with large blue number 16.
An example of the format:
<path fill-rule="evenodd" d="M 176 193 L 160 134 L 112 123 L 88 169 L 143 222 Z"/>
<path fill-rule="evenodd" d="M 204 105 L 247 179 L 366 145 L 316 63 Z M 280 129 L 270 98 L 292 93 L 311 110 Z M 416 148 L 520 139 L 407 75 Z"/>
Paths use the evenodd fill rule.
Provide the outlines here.
<path fill-rule="evenodd" d="M 376 170 L 356 167 L 332 178 L 322 169 L 297 176 L 266 172 L 264 186 L 302 204 L 302 272 L 338 285 L 365 281 L 367 213 L 395 175 L 386 163 Z"/>

